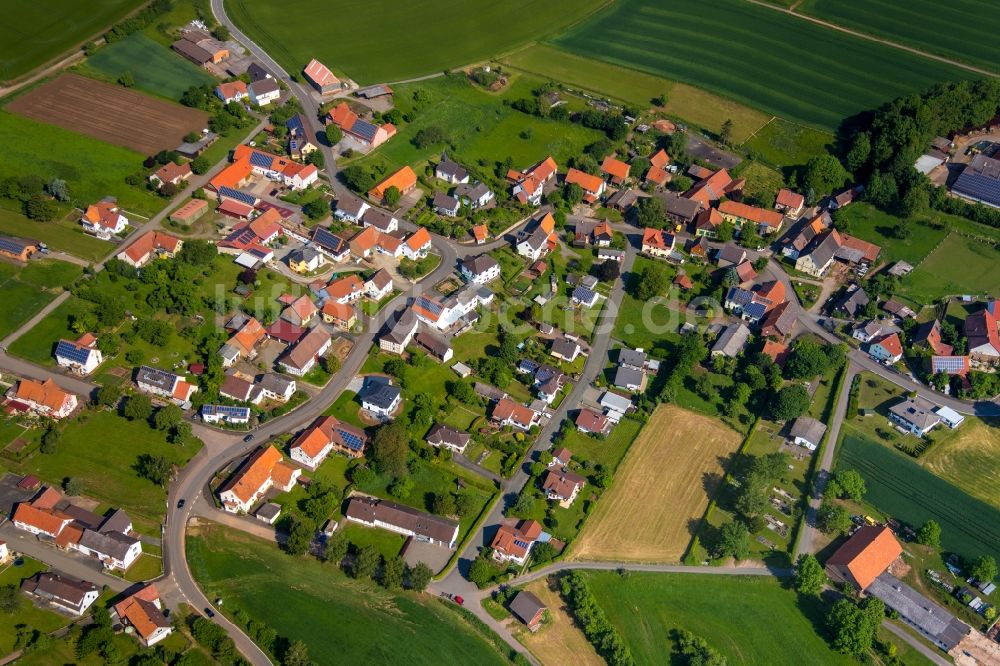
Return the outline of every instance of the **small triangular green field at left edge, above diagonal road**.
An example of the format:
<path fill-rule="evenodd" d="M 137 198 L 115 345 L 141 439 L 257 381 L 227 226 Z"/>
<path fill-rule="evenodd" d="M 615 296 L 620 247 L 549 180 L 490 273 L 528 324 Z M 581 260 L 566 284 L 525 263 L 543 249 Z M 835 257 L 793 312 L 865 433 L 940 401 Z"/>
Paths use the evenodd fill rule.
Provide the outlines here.
<path fill-rule="evenodd" d="M 4 295 L 6 314 L 0 319 L 0 338 L 45 307 L 83 273 L 76 264 L 62 261 L 31 262 L 24 268 L 0 264 L 0 292 Z"/>

